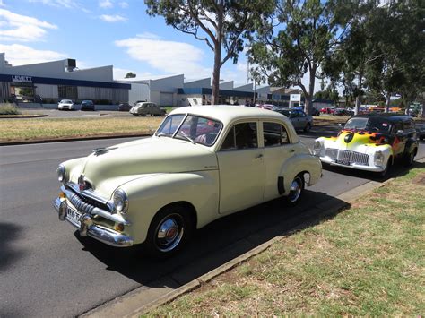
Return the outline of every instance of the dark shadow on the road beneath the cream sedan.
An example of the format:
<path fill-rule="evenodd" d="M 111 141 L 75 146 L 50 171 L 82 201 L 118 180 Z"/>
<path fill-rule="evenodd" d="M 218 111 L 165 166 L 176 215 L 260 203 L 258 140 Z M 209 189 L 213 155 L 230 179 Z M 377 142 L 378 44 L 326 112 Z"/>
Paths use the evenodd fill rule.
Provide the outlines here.
<path fill-rule="evenodd" d="M 166 260 L 154 259 L 143 248 L 114 248 L 91 237 L 75 236 L 83 250 L 103 262 L 108 271 L 117 271 L 150 288 L 163 288 L 165 277 L 175 288 L 212 271 L 275 236 L 291 235 L 294 228 L 308 228 L 333 217 L 329 208 L 349 206 L 325 193 L 306 190 L 298 206 L 288 208 L 282 199 L 217 219 L 195 232 L 186 248 Z M 161 281 L 161 282 L 159 282 Z"/>

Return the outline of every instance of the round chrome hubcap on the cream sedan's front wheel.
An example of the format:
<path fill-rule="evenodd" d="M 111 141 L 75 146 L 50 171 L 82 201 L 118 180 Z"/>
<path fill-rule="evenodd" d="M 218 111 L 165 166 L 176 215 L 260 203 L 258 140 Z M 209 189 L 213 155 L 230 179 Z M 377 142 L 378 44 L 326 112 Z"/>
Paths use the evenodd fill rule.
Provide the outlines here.
<path fill-rule="evenodd" d="M 160 221 L 156 231 L 156 245 L 162 252 L 176 248 L 183 237 L 183 219 L 178 214 L 172 214 Z"/>

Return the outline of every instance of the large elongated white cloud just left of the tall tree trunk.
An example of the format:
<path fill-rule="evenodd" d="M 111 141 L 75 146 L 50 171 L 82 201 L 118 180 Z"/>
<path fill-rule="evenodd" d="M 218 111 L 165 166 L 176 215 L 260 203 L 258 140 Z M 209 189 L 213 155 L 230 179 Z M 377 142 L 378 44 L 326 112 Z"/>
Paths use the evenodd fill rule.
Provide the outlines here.
<path fill-rule="evenodd" d="M 187 43 L 152 39 L 139 35 L 135 38 L 115 41 L 117 47 L 125 47 L 129 56 L 145 62 L 165 73 L 184 73 L 186 78 L 202 78 L 212 75 L 212 69 L 204 67 L 204 51 Z"/>

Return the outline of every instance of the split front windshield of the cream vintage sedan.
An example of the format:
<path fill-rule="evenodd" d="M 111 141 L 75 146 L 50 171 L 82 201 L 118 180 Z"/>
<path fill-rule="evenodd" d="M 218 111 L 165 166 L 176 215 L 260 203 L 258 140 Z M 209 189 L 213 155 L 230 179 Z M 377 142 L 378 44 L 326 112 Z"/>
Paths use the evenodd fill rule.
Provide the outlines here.
<path fill-rule="evenodd" d="M 169 136 L 189 142 L 212 146 L 221 132 L 222 124 L 219 121 L 195 115 L 168 116 L 156 136 Z"/>

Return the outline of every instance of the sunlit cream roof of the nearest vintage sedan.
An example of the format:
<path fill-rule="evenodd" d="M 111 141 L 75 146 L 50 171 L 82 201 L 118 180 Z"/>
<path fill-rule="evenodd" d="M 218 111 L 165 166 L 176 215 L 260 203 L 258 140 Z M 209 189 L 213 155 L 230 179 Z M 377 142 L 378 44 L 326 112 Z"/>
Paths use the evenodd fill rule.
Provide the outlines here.
<path fill-rule="evenodd" d="M 227 125 L 234 120 L 256 118 L 256 119 L 279 119 L 287 121 L 288 118 L 273 110 L 267 110 L 256 107 L 245 106 L 229 106 L 229 105 L 214 105 L 214 106 L 192 106 L 180 107 L 174 109 L 170 114 L 193 114 L 198 116 L 207 116 L 220 120 L 224 125 Z"/>

